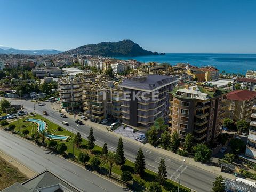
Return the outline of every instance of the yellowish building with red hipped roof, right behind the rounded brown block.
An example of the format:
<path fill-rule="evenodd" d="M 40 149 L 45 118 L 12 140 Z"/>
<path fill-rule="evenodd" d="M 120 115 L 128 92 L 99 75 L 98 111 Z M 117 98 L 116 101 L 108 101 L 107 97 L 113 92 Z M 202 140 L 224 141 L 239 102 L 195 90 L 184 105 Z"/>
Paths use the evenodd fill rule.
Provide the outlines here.
<path fill-rule="evenodd" d="M 235 90 L 227 94 L 227 117 L 234 121 L 250 121 L 252 106 L 256 104 L 256 92 Z"/>

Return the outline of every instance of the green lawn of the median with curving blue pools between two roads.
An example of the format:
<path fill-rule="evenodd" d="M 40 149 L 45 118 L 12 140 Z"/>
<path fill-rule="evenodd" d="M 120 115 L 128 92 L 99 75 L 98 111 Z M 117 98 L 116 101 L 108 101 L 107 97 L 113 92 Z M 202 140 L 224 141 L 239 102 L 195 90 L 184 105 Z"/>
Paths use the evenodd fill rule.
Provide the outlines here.
<path fill-rule="evenodd" d="M 68 135 L 70 136 L 70 139 L 68 141 L 58 141 L 58 143 L 65 143 L 68 147 L 67 149 L 67 153 L 69 155 L 73 154 L 73 139 L 74 139 L 74 135 L 71 132 L 67 131 L 66 129 L 62 128 L 62 131 L 58 131 L 57 128 L 59 127 L 59 125 L 56 125 L 54 123 L 52 123 L 51 121 L 47 120 L 46 118 L 44 118 L 41 115 L 35 115 L 34 117 L 26 117 L 26 118 L 35 118 L 35 119 L 41 119 L 43 121 L 46 122 L 46 124 L 48 125 L 48 130 L 52 133 L 52 134 L 57 134 L 57 135 Z M 23 119 L 19 119 L 19 124 L 20 124 L 20 131 L 22 132 L 23 130 L 27 129 L 29 130 L 29 135 L 31 136 L 33 133 L 35 133 L 37 131 L 37 125 L 32 123 L 32 122 L 24 122 L 24 120 L 26 118 Z M 16 126 L 15 131 L 19 131 L 19 124 L 18 124 L 18 120 L 14 121 L 10 124 L 14 124 Z M 26 127 L 22 128 L 22 125 L 25 125 Z M 22 134 L 21 134 L 22 135 Z M 95 145 L 95 147 L 93 148 L 93 150 L 90 151 L 87 150 L 87 140 L 83 139 L 83 143 L 82 143 L 82 147 L 78 148 L 76 147 L 76 145 L 74 145 L 74 154 L 76 156 L 76 158 L 79 156 L 79 153 L 81 153 L 81 151 L 84 151 L 86 153 L 88 153 L 90 155 L 90 157 L 92 156 L 98 156 L 101 158 L 100 153 L 101 153 L 102 148 Z M 102 167 L 105 167 L 106 169 L 108 169 L 108 165 L 101 165 Z M 133 166 L 134 163 L 131 161 L 126 160 L 126 163 L 124 165 L 123 170 L 129 170 L 131 172 L 133 172 Z M 116 173 L 118 175 L 121 175 L 122 170 L 120 166 L 113 166 L 113 173 Z M 146 174 L 145 177 L 143 179 L 141 179 L 138 175 L 133 174 L 133 180 L 136 181 L 137 183 L 139 183 L 142 186 L 147 187 L 149 185 L 149 182 L 151 181 L 156 181 L 156 173 L 150 170 L 146 170 Z M 163 188 L 163 191 L 177 191 L 177 186 L 178 183 L 171 181 L 171 180 L 167 180 L 167 182 L 165 183 Z M 139 189 L 137 189 L 136 191 L 140 191 Z M 180 187 L 180 191 L 190 191 L 188 188 L 181 186 Z"/>

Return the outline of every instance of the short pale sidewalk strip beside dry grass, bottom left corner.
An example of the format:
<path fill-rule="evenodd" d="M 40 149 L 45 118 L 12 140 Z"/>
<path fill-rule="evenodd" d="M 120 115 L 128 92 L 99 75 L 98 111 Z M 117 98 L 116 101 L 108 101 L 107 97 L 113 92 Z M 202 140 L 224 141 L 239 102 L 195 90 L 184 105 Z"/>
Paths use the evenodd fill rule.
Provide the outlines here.
<path fill-rule="evenodd" d="M 5 159 L 5 161 L 11 163 L 13 166 L 17 167 L 17 169 L 22 172 L 23 174 L 25 174 L 28 178 L 34 177 L 36 175 L 36 173 L 34 171 L 31 171 L 30 169 L 28 169 L 26 166 L 20 164 L 19 162 L 15 161 L 12 157 L 5 155 L 4 153 L 2 153 L 2 151 L 0 151 L 0 156 Z"/>

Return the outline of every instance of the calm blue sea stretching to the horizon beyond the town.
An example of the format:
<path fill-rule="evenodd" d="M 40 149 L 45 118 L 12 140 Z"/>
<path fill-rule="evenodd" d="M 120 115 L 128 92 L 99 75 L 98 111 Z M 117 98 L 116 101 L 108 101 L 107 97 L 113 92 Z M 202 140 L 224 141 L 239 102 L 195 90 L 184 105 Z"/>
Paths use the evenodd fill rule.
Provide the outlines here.
<path fill-rule="evenodd" d="M 171 65 L 189 63 L 194 66 L 212 65 L 226 73 L 246 74 L 247 70 L 256 70 L 256 54 L 197 54 L 197 53 L 167 53 L 159 56 L 115 57 L 117 59 L 135 59 L 140 62 L 167 62 Z"/>

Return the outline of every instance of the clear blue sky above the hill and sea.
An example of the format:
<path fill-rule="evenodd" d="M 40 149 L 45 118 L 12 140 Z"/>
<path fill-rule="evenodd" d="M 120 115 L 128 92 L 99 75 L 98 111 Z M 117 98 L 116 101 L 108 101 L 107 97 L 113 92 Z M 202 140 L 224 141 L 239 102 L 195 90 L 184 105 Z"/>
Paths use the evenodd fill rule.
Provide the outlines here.
<path fill-rule="evenodd" d="M 0 45 L 68 50 L 131 39 L 165 53 L 256 53 L 256 1 L 0 0 Z"/>

